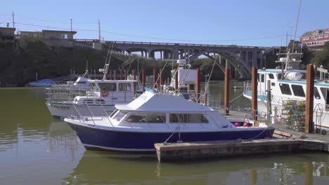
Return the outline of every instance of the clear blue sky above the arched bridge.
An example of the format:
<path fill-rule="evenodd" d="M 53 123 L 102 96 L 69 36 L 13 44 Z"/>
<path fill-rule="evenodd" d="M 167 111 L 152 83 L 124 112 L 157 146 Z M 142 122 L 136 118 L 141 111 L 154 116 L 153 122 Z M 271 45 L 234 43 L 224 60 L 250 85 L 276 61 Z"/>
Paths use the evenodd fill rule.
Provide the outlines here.
<path fill-rule="evenodd" d="M 98 30 L 99 18 L 105 40 L 280 46 L 286 32 L 295 33 L 298 6 L 299 0 L 6 0 L 0 26 L 12 22 L 12 12 L 20 31 L 70 29 L 72 18 L 75 39 L 98 39 L 98 31 L 79 29 Z M 328 0 L 302 0 L 297 36 L 329 27 L 328 7 Z"/>

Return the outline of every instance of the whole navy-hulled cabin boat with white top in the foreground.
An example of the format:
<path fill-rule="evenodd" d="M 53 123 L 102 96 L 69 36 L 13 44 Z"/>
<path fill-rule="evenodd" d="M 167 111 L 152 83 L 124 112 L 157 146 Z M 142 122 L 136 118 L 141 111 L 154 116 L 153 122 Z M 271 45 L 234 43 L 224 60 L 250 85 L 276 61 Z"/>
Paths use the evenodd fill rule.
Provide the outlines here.
<path fill-rule="evenodd" d="M 110 116 L 72 116 L 64 121 L 86 149 L 153 151 L 155 143 L 271 138 L 264 123 L 231 123 L 210 107 L 181 95 L 146 91 Z M 245 125 L 245 126 L 242 126 Z"/>

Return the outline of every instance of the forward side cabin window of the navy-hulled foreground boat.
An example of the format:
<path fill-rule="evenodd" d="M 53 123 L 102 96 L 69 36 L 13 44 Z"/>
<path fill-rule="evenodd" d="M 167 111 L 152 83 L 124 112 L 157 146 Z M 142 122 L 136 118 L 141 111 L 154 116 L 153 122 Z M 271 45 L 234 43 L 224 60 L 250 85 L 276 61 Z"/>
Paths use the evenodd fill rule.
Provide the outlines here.
<path fill-rule="evenodd" d="M 166 114 L 131 114 L 124 123 L 166 123 Z"/>

